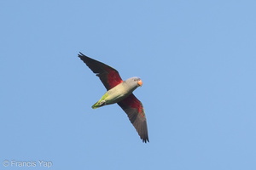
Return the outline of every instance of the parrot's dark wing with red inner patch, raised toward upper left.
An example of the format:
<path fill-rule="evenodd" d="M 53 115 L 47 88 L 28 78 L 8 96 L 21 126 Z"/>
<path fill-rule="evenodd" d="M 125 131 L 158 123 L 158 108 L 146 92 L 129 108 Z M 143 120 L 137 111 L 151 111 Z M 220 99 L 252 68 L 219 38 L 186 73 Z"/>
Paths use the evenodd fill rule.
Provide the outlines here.
<path fill-rule="evenodd" d="M 90 59 L 90 57 L 87 57 L 82 53 L 79 54 L 79 58 L 84 61 L 91 71 L 96 73 L 96 76 L 101 79 L 107 90 L 115 87 L 120 82 L 123 82 L 122 78 L 119 76 L 119 72 L 113 69 L 111 66 L 105 65 L 96 59 Z"/>

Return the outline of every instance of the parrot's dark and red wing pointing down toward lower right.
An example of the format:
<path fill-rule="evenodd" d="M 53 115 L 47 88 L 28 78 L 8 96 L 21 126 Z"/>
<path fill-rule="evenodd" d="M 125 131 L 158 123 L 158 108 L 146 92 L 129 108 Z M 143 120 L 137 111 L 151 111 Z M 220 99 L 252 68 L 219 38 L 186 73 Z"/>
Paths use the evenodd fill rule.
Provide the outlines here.
<path fill-rule="evenodd" d="M 149 142 L 147 121 L 142 102 L 134 94 L 130 94 L 120 101 L 118 105 L 125 111 L 143 142 Z"/>

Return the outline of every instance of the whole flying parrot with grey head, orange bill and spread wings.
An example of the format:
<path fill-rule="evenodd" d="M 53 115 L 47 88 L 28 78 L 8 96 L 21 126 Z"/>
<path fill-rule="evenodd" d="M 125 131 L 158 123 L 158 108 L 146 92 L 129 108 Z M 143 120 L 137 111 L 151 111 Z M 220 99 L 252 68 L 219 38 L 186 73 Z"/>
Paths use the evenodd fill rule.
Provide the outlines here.
<path fill-rule="evenodd" d="M 143 81 L 139 77 L 131 77 L 123 81 L 119 72 L 113 67 L 106 65 L 96 59 L 79 52 L 79 58 L 84 61 L 91 71 L 100 78 L 107 92 L 102 95 L 92 109 L 104 105 L 118 104 L 127 114 L 131 124 L 136 128 L 143 143 L 149 142 L 148 126 L 142 102 L 132 93 L 136 88 L 143 86 Z"/>

